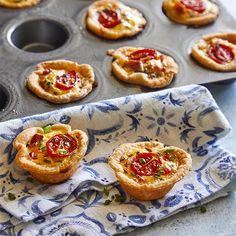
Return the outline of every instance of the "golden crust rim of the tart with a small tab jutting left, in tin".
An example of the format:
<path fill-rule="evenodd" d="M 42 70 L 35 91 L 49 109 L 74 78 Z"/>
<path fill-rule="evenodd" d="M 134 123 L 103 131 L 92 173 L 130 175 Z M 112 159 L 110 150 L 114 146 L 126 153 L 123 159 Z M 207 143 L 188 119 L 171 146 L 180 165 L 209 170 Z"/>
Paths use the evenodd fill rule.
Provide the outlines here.
<path fill-rule="evenodd" d="M 177 63 L 174 61 L 172 57 L 164 54 L 162 55 L 165 57 L 166 68 L 168 68 L 170 72 L 169 75 L 159 76 L 156 79 L 150 79 L 146 73 L 142 72 L 127 73 L 127 71 L 122 67 L 123 62 L 128 60 L 125 56 L 125 52 L 127 50 L 133 50 L 133 49 L 138 50 L 143 48 L 121 47 L 112 53 L 114 57 L 114 60 L 112 62 L 112 72 L 114 73 L 116 78 L 130 84 L 137 84 L 149 88 L 164 88 L 172 82 L 174 76 L 178 73 L 179 68 Z"/>

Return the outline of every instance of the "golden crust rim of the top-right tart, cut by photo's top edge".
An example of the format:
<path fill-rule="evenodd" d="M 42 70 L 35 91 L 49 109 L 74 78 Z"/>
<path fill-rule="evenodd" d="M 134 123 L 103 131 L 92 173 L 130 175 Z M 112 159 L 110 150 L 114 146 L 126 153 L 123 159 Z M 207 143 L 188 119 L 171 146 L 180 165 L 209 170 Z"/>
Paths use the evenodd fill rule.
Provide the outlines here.
<path fill-rule="evenodd" d="M 191 18 L 183 17 L 180 14 L 178 14 L 173 7 L 172 0 L 164 0 L 162 4 L 162 9 L 164 13 L 166 14 L 166 16 L 170 20 L 176 23 L 184 24 L 184 25 L 202 26 L 202 25 L 207 25 L 214 22 L 219 15 L 218 6 L 208 0 L 206 2 L 209 7 L 209 10 L 208 10 L 209 12 L 207 14 L 204 14 L 204 15 L 199 14 L 199 16 L 195 16 Z"/>

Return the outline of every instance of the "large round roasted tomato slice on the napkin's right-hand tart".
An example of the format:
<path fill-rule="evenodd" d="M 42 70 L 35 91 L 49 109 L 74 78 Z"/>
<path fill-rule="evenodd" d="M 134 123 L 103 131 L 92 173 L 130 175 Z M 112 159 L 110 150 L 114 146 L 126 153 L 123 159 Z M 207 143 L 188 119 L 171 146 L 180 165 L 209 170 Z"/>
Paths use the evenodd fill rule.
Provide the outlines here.
<path fill-rule="evenodd" d="M 131 169 L 138 175 L 149 176 L 157 172 L 161 160 L 155 153 L 139 153 L 131 163 Z"/>

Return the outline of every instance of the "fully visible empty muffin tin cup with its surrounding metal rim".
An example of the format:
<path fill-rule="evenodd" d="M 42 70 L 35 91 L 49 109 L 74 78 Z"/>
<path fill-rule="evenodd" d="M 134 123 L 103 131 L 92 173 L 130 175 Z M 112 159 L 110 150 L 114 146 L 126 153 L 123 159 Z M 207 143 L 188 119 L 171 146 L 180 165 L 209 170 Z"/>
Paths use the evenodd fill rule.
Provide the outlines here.
<path fill-rule="evenodd" d="M 82 43 L 77 26 L 70 18 L 48 14 L 20 15 L 3 29 L 3 46 L 9 57 L 26 61 L 63 57 Z"/>

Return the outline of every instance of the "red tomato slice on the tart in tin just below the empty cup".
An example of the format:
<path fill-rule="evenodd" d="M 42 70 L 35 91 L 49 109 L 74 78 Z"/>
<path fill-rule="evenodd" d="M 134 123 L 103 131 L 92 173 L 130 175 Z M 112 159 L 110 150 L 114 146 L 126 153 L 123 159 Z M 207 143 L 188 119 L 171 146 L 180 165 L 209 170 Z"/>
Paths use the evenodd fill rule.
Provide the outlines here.
<path fill-rule="evenodd" d="M 57 76 L 56 88 L 59 88 L 61 90 L 70 90 L 75 87 L 78 81 L 79 77 L 77 73 L 72 70 L 62 76 Z"/>

